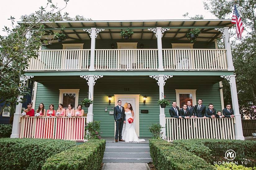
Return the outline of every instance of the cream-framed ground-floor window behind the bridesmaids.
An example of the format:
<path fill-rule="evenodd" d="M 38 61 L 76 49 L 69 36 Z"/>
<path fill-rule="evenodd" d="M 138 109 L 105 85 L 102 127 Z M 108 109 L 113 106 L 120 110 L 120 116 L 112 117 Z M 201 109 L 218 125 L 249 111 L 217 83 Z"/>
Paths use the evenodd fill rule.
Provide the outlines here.
<path fill-rule="evenodd" d="M 78 105 L 79 89 L 59 89 L 59 103 L 63 104 L 63 108 L 68 108 L 68 104 L 72 104 L 73 108 Z"/>

